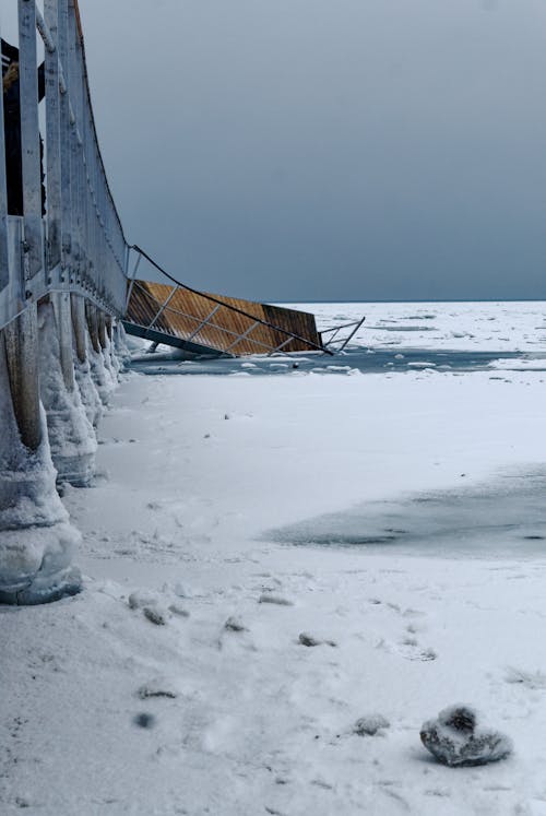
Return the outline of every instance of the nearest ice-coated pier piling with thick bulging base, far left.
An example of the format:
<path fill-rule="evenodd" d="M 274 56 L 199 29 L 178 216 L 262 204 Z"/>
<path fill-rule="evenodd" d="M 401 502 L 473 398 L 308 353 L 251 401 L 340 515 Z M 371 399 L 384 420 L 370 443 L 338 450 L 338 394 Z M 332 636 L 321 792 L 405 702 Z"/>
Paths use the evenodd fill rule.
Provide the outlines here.
<path fill-rule="evenodd" d="M 0 603 L 54 601 L 80 589 L 80 533 L 56 490 L 39 402 L 37 312 L 0 332 Z"/>

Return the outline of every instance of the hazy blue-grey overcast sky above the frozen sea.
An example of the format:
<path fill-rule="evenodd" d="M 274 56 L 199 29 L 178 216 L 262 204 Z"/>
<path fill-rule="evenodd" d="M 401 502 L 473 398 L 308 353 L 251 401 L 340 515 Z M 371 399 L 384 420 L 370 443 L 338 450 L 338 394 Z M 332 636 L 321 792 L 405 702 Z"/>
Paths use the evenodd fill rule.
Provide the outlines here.
<path fill-rule="evenodd" d="M 546 299 L 544 0 L 80 5 L 127 238 L 179 280 Z"/>

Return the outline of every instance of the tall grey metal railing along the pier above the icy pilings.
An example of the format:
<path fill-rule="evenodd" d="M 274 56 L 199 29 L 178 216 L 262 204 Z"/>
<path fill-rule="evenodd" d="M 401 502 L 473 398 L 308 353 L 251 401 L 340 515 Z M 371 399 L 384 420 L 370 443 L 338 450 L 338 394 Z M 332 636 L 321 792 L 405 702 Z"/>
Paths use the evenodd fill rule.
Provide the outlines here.
<path fill-rule="evenodd" d="M 43 8 L 17 0 L 17 11 L 23 213 L 9 212 L 2 94 L 0 329 L 51 292 L 81 294 L 120 316 L 128 249 L 95 130 L 78 0 L 43 0 Z M 43 159 L 37 36 L 45 48 Z"/>

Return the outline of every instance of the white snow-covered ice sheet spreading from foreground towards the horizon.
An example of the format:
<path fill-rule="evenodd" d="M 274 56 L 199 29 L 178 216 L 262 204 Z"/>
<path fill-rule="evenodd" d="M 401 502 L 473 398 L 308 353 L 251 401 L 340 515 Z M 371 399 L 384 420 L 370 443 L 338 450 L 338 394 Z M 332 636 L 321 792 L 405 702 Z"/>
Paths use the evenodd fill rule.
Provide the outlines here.
<path fill-rule="evenodd" d="M 126 378 L 85 591 L 0 607 L 2 815 L 546 814 L 546 304 L 308 308 L 427 365 Z M 513 755 L 438 765 L 455 702 Z"/>

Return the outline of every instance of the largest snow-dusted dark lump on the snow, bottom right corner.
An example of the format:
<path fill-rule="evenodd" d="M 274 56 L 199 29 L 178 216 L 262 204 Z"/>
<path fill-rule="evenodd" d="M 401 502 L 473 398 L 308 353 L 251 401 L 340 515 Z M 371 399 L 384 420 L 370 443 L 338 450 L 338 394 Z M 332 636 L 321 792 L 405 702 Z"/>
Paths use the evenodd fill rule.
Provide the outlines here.
<path fill-rule="evenodd" d="M 487 765 L 512 753 L 511 740 L 480 725 L 480 717 L 470 706 L 450 706 L 420 730 L 423 745 L 450 768 Z"/>

